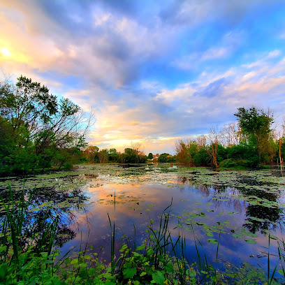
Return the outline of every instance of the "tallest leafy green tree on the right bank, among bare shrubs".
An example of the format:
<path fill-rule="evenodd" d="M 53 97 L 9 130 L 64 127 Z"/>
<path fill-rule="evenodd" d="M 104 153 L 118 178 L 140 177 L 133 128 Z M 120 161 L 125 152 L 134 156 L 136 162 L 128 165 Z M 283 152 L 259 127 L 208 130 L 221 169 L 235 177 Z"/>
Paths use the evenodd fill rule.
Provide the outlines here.
<path fill-rule="evenodd" d="M 272 112 L 258 110 L 254 106 L 248 110 L 238 108 L 234 114 L 238 122 L 243 139 L 252 145 L 258 153 L 259 163 L 266 160 L 268 152 L 272 149 L 273 132 L 271 129 L 274 118 Z"/>

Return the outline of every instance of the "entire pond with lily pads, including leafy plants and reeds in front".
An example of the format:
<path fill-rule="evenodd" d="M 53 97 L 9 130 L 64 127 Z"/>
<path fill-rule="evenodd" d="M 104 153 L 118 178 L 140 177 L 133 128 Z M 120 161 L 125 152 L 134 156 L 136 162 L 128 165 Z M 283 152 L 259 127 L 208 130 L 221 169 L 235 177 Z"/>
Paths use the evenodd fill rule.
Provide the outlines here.
<path fill-rule="evenodd" d="M 2 284 L 279 284 L 278 169 L 83 164 L 0 180 Z"/>

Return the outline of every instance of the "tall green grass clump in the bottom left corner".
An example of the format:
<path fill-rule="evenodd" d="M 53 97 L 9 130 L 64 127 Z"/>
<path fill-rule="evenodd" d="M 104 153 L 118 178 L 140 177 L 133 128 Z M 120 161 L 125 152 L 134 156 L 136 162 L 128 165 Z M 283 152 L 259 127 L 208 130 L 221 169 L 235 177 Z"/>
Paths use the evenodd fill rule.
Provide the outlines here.
<path fill-rule="evenodd" d="M 24 221 L 29 211 L 31 196 L 25 199 L 22 191 L 19 200 L 14 200 L 9 188 L 8 200 L 0 197 L 5 211 L 1 223 L 0 238 L 0 282 L 6 284 L 28 284 L 38 278 L 41 272 L 53 275 L 53 244 L 57 232 L 59 217 L 54 217 L 45 225 L 43 233 L 36 233 L 35 226 L 30 225 L 29 237 L 25 237 Z M 34 231 L 33 231 L 34 230 Z M 24 283 L 21 283 L 24 282 Z M 35 283 L 36 284 L 36 283 Z"/>

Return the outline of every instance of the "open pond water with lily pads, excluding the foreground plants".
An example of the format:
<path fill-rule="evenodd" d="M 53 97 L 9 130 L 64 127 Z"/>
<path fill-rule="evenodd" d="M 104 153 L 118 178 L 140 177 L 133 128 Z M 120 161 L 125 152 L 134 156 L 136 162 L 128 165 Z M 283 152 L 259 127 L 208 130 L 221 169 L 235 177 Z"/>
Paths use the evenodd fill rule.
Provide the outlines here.
<path fill-rule="evenodd" d="M 8 185 L 15 191 L 23 189 L 23 183 L 27 191 L 34 189 L 27 226 L 31 220 L 58 214 L 57 244 L 63 255 L 80 244 L 92 245 L 99 257 L 110 261 L 108 214 L 115 221 L 119 256 L 122 242 L 141 244 L 150 221 L 158 226 L 161 213 L 170 205 L 168 228 L 174 240 L 177 235 L 185 237 L 190 262 L 198 261 L 196 242 L 201 256 L 205 254 L 210 263 L 218 259 L 220 268 L 250 263 L 266 270 L 268 252 L 271 270 L 279 263 L 285 179 L 276 170 L 216 172 L 175 169 L 167 163 L 125 168 L 85 165 L 66 173 L 27 177 L 25 182 L 3 179 L 2 196 L 7 195 Z"/>

